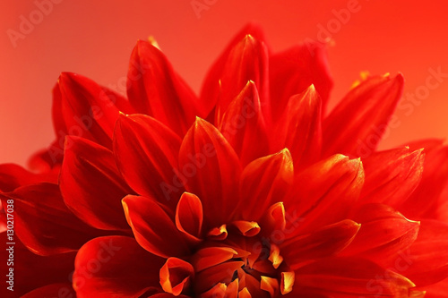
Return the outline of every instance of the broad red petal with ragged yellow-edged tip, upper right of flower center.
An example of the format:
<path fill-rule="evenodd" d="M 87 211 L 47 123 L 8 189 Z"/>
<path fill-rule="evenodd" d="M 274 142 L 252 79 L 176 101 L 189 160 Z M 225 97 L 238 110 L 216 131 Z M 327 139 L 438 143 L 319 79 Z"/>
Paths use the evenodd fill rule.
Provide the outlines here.
<path fill-rule="evenodd" d="M 295 176 L 294 188 L 285 201 L 289 217 L 291 214 L 296 217 L 287 228 L 298 233 L 347 218 L 363 183 L 364 171 L 359 158 L 334 155 L 309 166 Z"/>

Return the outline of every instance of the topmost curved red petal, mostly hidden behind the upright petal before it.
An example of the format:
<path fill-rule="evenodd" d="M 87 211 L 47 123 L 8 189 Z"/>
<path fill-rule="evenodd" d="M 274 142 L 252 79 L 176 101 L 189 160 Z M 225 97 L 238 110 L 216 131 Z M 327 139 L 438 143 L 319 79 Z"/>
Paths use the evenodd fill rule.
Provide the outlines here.
<path fill-rule="evenodd" d="M 207 106 L 207 111 L 211 111 L 211 108 L 216 105 L 218 98 L 220 98 L 220 79 L 222 77 L 222 72 L 224 72 L 224 69 L 227 67 L 230 52 L 243 38 L 246 37 L 246 35 L 251 35 L 257 40 L 264 40 L 263 30 L 257 25 L 248 24 L 230 41 L 228 47 L 226 47 L 217 61 L 211 66 L 210 71 L 207 73 L 202 84 L 201 105 Z M 243 84 L 246 84 L 246 82 L 247 81 L 244 81 Z M 244 87 L 244 85 L 242 87 Z M 239 90 L 237 91 L 239 92 Z"/>

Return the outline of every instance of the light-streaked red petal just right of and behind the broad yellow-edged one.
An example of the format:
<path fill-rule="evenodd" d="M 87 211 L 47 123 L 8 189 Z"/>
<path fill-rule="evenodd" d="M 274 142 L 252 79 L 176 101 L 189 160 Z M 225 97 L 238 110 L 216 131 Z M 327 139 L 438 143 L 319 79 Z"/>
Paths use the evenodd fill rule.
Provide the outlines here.
<path fill-rule="evenodd" d="M 420 183 L 425 155 L 409 148 L 375 152 L 363 159 L 366 172 L 359 203 L 387 203 L 398 207 Z"/>

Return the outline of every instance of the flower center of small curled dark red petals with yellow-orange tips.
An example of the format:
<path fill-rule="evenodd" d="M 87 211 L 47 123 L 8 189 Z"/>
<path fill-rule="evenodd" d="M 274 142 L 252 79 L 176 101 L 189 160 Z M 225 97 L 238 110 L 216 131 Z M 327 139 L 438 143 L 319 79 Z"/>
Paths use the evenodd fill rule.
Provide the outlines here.
<path fill-rule="evenodd" d="M 172 287 L 177 286 L 177 293 L 167 291 L 169 287 L 164 290 L 204 298 L 272 298 L 288 294 L 294 284 L 294 272 L 281 257 L 279 247 L 262 232 L 257 223 L 248 221 L 211 229 L 194 255 L 183 260 L 185 264 L 171 268 L 174 274 L 175 269 L 179 272 L 179 267 L 183 267 L 180 277 L 172 277 L 177 280 Z"/>

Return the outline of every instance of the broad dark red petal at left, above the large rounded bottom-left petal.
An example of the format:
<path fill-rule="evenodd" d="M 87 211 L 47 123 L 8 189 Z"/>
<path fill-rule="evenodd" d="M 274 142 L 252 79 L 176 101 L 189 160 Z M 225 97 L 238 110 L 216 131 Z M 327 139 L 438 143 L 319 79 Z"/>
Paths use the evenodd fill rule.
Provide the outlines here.
<path fill-rule="evenodd" d="M 67 136 L 59 181 L 65 204 L 82 221 L 99 229 L 129 229 L 121 200 L 133 191 L 121 177 L 109 149 Z"/>

